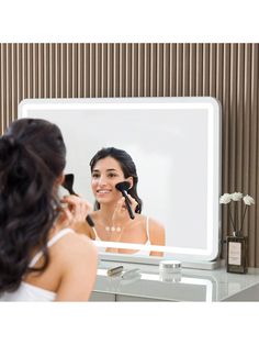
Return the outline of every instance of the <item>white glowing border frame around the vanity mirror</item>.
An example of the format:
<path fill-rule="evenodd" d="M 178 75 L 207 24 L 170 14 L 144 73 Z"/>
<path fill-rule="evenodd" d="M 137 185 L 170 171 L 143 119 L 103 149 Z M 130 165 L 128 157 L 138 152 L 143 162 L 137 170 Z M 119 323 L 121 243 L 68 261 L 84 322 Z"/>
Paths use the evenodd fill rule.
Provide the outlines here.
<path fill-rule="evenodd" d="M 215 260 L 219 252 L 221 238 L 221 213 L 218 197 L 221 194 L 221 104 L 211 97 L 182 97 L 182 98 L 109 98 L 109 99 L 26 99 L 19 104 L 19 118 L 41 118 L 56 123 L 63 131 L 63 118 L 60 111 L 71 113 L 71 133 L 72 124 L 77 123 L 76 114 L 78 111 L 85 111 L 86 114 L 95 110 L 206 110 L 207 111 L 207 194 L 206 194 L 206 247 L 172 247 L 172 246 L 146 246 L 139 244 L 100 242 L 98 246 L 113 246 L 114 248 L 136 248 L 145 251 L 161 251 L 168 253 L 170 257 L 185 261 L 211 261 Z M 59 114 L 56 115 L 55 112 Z M 44 112 L 44 114 L 43 114 Z M 87 116 L 86 116 L 87 119 Z M 75 127 L 74 127 L 75 131 Z M 64 131 L 63 131 L 64 133 Z M 74 133 L 76 136 L 76 133 Z M 68 147 L 68 138 L 64 136 Z M 87 144 L 85 144 L 87 145 Z M 81 145 L 81 146 L 85 146 Z M 114 145 L 115 146 L 115 145 Z M 101 147 L 100 147 L 101 148 Z M 119 148 L 124 148 L 123 145 Z M 89 160 L 91 157 L 88 157 Z M 134 158 L 134 157 L 133 157 Z M 90 186 L 89 186 L 90 188 Z M 195 198 L 195 196 L 191 196 Z M 195 200 L 193 199 L 193 202 Z M 102 258 L 114 258 L 114 254 L 102 253 Z M 119 257 L 128 257 L 127 260 L 138 261 L 135 255 L 121 255 Z M 142 261 L 142 260 L 140 260 Z M 150 258 L 153 261 L 153 258 Z"/>

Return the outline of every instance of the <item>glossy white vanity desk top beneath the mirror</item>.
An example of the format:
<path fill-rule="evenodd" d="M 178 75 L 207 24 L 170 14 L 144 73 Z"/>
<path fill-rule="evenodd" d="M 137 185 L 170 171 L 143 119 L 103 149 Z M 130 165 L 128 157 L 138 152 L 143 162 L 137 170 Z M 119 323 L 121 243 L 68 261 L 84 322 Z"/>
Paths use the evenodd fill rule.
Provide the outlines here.
<path fill-rule="evenodd" d="M 124 280 L 106 270 L 123 265 L 124 271 L 140 269 L 140 277 Z M 259 301 L 259 268 L 248 274 L 182 268 L 176 281 L 161 281 L 158 266 L 101 261 L 90 301 Z"/>

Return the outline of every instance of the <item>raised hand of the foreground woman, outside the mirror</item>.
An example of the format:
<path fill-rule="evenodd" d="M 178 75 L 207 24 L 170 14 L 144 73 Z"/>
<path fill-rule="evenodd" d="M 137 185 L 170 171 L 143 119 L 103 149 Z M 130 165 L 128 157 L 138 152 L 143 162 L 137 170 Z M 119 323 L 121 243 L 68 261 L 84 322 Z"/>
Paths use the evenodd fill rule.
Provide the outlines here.
<path fill-rule="evenodd" d="M 66 196 L 60 200 L 67 207 L 63 209 L 58 220 L 61 227 L 71 227 L 79 233 L 86 233 L 86 218 L 92 212 L 92 205 L 77 196 Z"/>

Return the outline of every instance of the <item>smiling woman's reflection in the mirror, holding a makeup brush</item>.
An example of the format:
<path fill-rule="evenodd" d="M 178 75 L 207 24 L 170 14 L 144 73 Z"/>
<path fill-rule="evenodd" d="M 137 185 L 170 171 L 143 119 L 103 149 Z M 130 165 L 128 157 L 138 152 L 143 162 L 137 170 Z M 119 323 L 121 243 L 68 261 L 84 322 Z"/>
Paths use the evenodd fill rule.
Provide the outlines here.
<path fill-rule="evenodd" d="M 137 194 L 138 177 L 132 157 L 123 149 L 102 148 L 90 162 L 92 191 L 95 211 L 91 214 L 94 227 L 89 236 L 94 240 L 165 245 L 165 229 L 156 220 L 142 215 L 142 200 Z M 125 207 L 125 199 L 115 188 L 122 181 L 130 183 L 127 191 L 135 218 L 132 220 Z M 122 254 L 147 254 L 146 251 L 106 248 L 106 252 Z M 149 255 L 162 256 L 151 251 Z"/>

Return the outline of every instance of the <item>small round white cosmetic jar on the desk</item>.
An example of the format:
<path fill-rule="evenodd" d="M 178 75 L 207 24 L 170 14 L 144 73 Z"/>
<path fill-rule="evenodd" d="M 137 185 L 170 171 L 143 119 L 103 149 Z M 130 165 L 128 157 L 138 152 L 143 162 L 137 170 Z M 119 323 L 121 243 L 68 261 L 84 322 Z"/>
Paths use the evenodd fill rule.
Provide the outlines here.
<path fill-rule="evenodd" d="M 181 280 L 181 261 L 162 260 L 159 263 L 160 280 L 165 282 L 178 282 Z"/>

